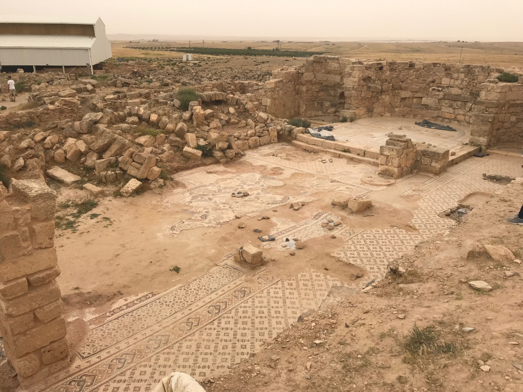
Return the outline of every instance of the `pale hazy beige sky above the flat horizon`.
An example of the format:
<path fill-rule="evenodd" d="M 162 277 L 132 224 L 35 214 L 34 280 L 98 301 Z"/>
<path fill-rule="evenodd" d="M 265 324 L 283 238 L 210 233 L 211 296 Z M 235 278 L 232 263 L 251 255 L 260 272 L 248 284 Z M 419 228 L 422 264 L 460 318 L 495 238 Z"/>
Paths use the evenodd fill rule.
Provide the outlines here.
<path fill-rule="evenodd" d="M 100 16 L 108 34 L 523 41 L 523 0 L 24 0 L 21 4 L 6 2 L 3 11 Z"/>

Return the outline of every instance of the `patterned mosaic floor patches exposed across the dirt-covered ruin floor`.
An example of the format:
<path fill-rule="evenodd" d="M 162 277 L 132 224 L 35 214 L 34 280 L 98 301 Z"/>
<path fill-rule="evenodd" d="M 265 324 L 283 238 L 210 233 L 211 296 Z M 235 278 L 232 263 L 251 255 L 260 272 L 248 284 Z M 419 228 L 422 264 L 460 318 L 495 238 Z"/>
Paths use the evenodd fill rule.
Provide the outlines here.
<path fill-rule="evenodd" d="M 180 230 L 217 227 L 232 220 L 236 212 L 256 215 L 272 206 L 312 199 L 316 190 L 355 196 L 382 189 L 363 185 L 353 171 L 347 170 L 349 164 L 344 159 L 326 164 L 317 160 L 295 163 L 272 155 L 277 148 L 281 144 L 249 151 L 244 159 L 269 169 L 282 168 L 281 175 L 243 174 L 219 166 L 177 175 L 186 188 L 162 199 L 162 203 L 166 209 L 175 203 L 187 205 L 192 217 L 173 222 L 173 240 Z M 360 176 L 376 170 L 365 165 L 358 169 Z M 439 213 L 471 192 L 503 190 L 501 185 L 482 180 L 483 172 L 514 176 L 519 171 L 516 164 L 471 158 L 438 177 L 414 175 L 402 179 L 393 187 L 405 195 L 421 195 L 420 207 L 413 211 L 411 222 L 417 233 L 395 227 L 355 230 L 342 224 L 335 232 L 345 243 L 333 255 L 366 268 L 366 281 L 380 278 L 389 261 L 411 250 L 420 240 L 449 229 L 452 221 L 438 217 Z M 297 197 L 271 193 L 295 172 L 318 177 L 303 181 L 303 191 Z M 232 198 L 232 190 L 238 188 L 247 188 L 252 197 Z M 263 246 L 281 249 L 285 237 L 322 236 L 327 229 L 321 227 L 321 222 L 327 217 L 336 219 L 324 211 L 315 212 L 303 222 L 274 218 L 276 227 L 271 234 L 276 241 Z M 158 295 L 143 295 L 90 320 L 87 338 L 72 366 L 32 391 L 146 392 L 172 371 L 186 372 L 196 379 L 224 374 L 231 364 L 258 351 L 261 343 L 274 338 L 301 313 L 318 308 L 333 285 L 346 284 L 313 270 L 290 280 L 270 276 L 263 268 L 253 275 L 234 263 L 229 253 L 219 266 L 183 285 Z"/>

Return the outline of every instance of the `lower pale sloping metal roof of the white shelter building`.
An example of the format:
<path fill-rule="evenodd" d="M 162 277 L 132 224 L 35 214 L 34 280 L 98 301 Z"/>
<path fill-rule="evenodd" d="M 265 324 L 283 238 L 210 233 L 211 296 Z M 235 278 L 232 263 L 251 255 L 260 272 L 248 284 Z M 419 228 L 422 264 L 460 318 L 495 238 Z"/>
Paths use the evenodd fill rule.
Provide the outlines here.
<path fill-rule="evenodd" d="M 95 37 L 40 36 L 31 34 L 0 34 L 0 48 L 73 48 L 88 49 Z"/>

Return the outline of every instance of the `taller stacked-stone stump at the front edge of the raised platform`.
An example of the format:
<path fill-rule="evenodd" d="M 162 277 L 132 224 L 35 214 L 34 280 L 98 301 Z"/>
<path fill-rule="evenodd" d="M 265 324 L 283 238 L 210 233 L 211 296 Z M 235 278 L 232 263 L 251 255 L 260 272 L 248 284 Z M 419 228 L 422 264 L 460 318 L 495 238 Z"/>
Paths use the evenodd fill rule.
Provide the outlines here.
<path fill-rule="evenodd" d="M 415 169 L 417 147 L 405 135 L 389 133 L 389 139 L 380 147 L 378 172 L 392 178 L 401 178 Z"/>

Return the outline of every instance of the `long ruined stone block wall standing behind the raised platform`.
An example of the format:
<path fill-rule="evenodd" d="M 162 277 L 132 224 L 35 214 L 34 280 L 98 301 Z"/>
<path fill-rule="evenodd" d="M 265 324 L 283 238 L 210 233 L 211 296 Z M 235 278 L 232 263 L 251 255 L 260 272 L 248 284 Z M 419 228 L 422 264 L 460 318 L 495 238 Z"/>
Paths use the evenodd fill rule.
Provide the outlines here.
<path fill-rule="evenodd" d="M 272 72 L 255 91 L 260 110 L 276 117 L 341 114 L 425 118 L 472 124 L 483 148 L 523 144 L 523 80 L 501 83 L 484 65 L 363 62 L 312 56 L 301 68 Z M 520 78 L 521 79 L 521 78 Z"/>

